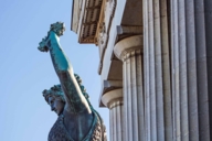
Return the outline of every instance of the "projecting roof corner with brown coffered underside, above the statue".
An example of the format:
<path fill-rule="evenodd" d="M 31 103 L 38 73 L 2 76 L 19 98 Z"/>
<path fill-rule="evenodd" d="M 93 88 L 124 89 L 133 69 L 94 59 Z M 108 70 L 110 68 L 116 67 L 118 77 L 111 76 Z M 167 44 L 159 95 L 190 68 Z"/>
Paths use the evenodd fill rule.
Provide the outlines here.
<path fill-rule="evenodd" d="M 103 0 L 73 0 L 71 30 L 80 43 L 96 43 Z"/>

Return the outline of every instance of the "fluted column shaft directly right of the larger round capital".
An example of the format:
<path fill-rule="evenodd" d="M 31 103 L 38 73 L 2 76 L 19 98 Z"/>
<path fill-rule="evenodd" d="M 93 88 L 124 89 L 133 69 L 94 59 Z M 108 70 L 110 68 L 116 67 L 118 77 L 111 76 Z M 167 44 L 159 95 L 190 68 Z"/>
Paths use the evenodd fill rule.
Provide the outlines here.
<path fill-rule="evenodd" d="M 167 0 L 144 1 L 146 141 L 172 140 Z"/>

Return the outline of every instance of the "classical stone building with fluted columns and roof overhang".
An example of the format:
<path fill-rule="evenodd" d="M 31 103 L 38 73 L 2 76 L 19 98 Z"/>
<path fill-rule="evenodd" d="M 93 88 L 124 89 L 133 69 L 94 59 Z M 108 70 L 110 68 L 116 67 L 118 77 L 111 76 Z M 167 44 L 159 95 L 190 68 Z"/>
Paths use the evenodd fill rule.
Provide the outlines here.
<path fill-rule="evenodd" d="M 99 48 L 110 141 L 212 140 L 212 0 L 73 0 Z"/>

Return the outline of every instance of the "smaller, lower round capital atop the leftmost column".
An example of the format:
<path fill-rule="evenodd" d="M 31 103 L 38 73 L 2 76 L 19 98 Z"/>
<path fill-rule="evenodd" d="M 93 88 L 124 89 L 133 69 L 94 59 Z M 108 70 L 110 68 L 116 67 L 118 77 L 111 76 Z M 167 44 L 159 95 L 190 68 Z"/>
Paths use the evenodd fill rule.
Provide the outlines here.
<path fill-rule="evenodd" d="M 123 88 L 105 93 L 102 97 L 102 101 L 109 109 L 123 105 Z"/>

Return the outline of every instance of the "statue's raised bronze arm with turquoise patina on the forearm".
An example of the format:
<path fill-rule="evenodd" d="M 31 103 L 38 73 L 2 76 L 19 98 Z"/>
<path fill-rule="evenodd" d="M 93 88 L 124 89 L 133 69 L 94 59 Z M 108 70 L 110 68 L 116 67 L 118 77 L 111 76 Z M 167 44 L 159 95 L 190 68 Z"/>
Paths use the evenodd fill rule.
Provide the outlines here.
<path fill-rule="evenodd" d="M 60 78 L 61 86 L 65 94 L 65 100 L 71 112 L 92 112 L 75 79 L 72 65 L 61 48 L 59 36 L 50 32 L 47 47 L 54 69 Z"/>

